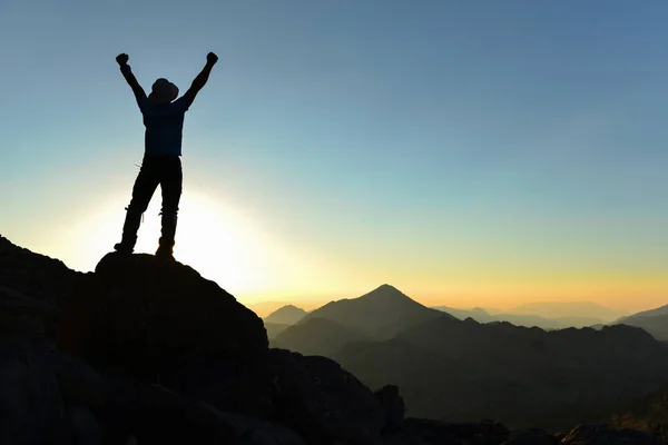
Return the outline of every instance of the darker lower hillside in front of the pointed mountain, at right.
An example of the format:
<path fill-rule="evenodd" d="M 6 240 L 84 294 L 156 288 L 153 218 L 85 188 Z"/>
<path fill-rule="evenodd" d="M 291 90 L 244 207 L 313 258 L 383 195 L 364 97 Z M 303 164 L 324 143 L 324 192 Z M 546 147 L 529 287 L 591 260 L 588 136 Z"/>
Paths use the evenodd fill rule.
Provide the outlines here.
<path fill-rule="evenodd" d="M 598 421 L 668 377 L 668 349 L 626 326 L 546 333 L 443 318 L 333 358 L 371 387 L 401 386 L 411 415 L 513 427 Z"/>

